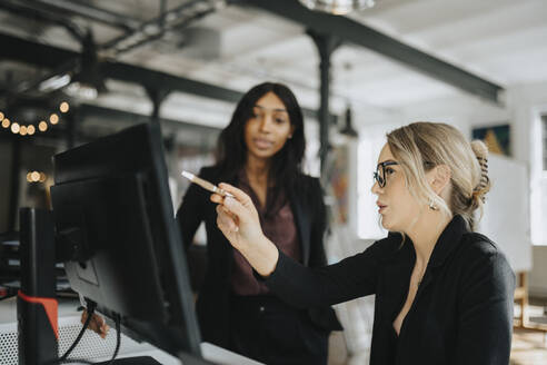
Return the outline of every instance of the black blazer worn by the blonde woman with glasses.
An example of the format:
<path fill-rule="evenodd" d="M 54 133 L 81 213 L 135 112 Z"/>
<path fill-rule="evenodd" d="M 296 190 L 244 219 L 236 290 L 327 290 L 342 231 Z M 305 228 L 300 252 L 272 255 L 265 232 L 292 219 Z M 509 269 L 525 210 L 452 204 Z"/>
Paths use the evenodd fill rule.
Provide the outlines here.
<path fill-rule="evenodd" d="M 442 231 L 400 335 L 392 323 L 405 304 L 416 260 L 407 237 L 390 234 L 338 264 L 308 269 L 280 253 L 268 287 L 298 307 L 376 294 L 370 364 L 508 364 L 515 275 L 487 237 L 461 216 Z"/>

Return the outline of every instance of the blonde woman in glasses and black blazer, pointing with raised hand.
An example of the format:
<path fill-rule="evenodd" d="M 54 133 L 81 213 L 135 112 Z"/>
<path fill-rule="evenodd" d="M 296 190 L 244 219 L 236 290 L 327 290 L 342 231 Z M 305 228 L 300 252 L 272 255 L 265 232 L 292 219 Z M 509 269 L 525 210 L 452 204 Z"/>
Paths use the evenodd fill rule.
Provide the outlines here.
<path fill-rule="evenodd" d="M 475 233 L 489 189 L 487 149 L 444 124 L 387 135 L 372 193 L 390 231 L 364 253 L 322 268 L 288 258 L 260 229 L 241 190 L 217 203 L 217 224 L 265 284 L 294 306 L 375 294 L 370 364 L 508 364 L 515 275 Z"/>

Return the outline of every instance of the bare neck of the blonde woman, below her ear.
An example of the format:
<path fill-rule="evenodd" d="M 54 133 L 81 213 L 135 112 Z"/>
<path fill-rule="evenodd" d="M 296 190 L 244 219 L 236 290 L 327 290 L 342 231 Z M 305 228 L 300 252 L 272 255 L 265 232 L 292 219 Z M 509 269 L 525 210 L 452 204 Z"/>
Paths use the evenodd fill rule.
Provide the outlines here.
<path fill-rule="evenodd" d="M 426 208 L 427 209 L 427 208 Z M 416 264 L 426 267 L 440 235 L 450 219 L 440 211 L 427 209 L 406 233 L 416 250 Z"/>

